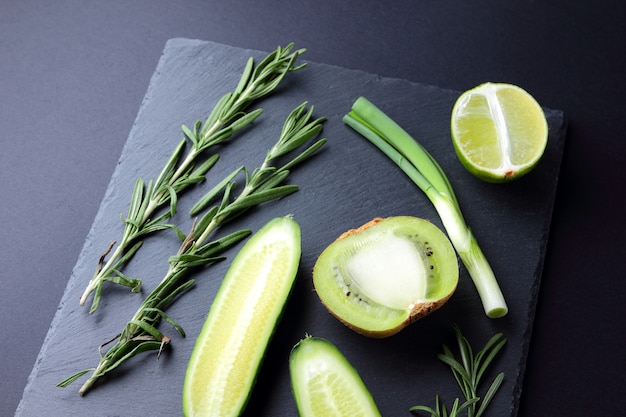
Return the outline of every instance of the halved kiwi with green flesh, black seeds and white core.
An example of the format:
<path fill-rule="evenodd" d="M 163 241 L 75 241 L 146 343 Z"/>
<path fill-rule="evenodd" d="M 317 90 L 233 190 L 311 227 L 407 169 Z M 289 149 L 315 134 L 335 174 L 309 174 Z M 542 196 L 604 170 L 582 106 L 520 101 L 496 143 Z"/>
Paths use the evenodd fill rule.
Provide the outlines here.
<path fill-rule="evenodd" d="M 448 237 L 411 216 L 376 218 L 343 233 L 313 268 L 315 290 L 330 313 L 370 337 L 391 336 L 438 309 L 458 279 Z"/>

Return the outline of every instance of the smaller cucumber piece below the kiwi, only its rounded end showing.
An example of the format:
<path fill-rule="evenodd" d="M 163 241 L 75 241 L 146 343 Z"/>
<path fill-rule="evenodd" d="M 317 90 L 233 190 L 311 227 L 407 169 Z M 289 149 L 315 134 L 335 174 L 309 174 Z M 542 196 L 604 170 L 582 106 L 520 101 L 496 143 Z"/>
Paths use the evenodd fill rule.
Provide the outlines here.
<path fill-rule="evenodd" d="M 328 340 L 307 336 L 298 342 L 289 370 L 300 417 L 380 417 L 356 369 Z"/>

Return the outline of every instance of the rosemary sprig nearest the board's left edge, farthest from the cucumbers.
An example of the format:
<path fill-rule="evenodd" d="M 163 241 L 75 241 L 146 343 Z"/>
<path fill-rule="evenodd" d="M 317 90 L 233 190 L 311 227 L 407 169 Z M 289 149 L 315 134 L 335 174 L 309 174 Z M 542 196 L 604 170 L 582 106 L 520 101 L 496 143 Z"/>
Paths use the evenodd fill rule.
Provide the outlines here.
<path fill-rule="evenodd" d="M 151 180 L 146 184 L 139 178 L 135 182 L 128 215 L 122 219 L 122 238 L 108 260 L 105 258 L 116 242 L 100 258 L 98 267 L 80 298 L 80 305 L 84 305 L 89 295 L 95 292 L 90 313 L 97 310 L 102 286 L 106 281 L 129 287 L 132 292 L 139 292 L 141 280 L 124 275 L 121 268 L 139 250 L 141 239 L 159 230 L 175 229 L 174 225 L 165 222 L 176 213 L 177 196 L 190 186 L 203 181 L 205 174 L 218 159 L 217 154 L 210 155 L 196 167 L 201 154 L 252 123 L 262 109 L 248 113 L 245 110 L 254 101 L 274 91 L 288 72 L 304 67 L 306 64 L 295 65 L 296 59 L 304 51 L 294 50 L 292 43 L 284 48 L 278 47 L 256 66 L 254 59 L 249 58 L 235 90 L 225 94 L 217 102 L 206 121 L 197 121 L 193 130 L 182 126 L 185 137 L 156 181 Z M 188 141 L 191 142 L 191 148 L 185 154 Z M 153 218 L 168 203 L 169 209 Z"/>

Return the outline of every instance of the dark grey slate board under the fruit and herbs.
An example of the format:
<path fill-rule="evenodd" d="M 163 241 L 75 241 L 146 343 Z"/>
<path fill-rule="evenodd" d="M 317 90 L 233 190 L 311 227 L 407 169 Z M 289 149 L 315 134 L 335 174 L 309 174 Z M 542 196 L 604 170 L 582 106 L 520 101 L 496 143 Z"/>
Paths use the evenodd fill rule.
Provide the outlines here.
<path fill-rule="evenodd" d="M 98 346 L 117 334 L 142 296 L 108 286 L 103 304 L 93 315 L 78 298 L 109 242 L 119 238 L 120 213 L 127 211 L 138 176 L 155 178 L 181 138 L 180 125 L 204 119 L 216 100 L 231 90 L 249 56 L 264 53 L 211 42 L 173 39 L 163 52 L 130 132 L 93 227 L 69 279 L 50 331 L 32 371 L 17 416 L 175 416 L 188 358 L 229 261 L 195 274 L 197 285 L 169 310 L 187 331 L 181 338 L 168 325 L 171 348 L 136 357 L 86 397 L 77 390 L 81 379 L 66 389 L 55 384 L 74 372 L 94 367 Z M 304 56 L 306 57 L 306 55 Z M 337 322 L 321 306 L 311 282 L 313 264 L 341 232 L 374 217 L 413 215 L 441 227 L 426 197 L 372 145 L 343 125 L 341 118 L 364 95 L 396 119 L 448 172 L 462 209 L 499 278 L 509 303 L 506 318 L 488 319 L 476 291 L 461 268 L 460 284 L 441 310 L 403 332 L 382 340 L 360 336 Z M 298 193 L 266 204 L 226 230 L 257 230 L 269 219 L 293 214 L 302 227 L 303 255 L 297 283 L 283 320 L 269 347 L 246 415 L 293 416 L 288 355 L 305 333 L 332 341 L 360 371 L 386 416 L 411 415 L 409 407 L 434 405 L 436 393 L 447 403 L 460 396 L 449 369 L 436 359 L 441 345 L 454 345 L 451 329 L 458 324 L 475 346 L 495 332 L 509 343 L 497 368 L 506 373 L 489 415 L 515 416 L 521 393 L 527 349 L 554 193 L 565 138 L 560 111 L 546 109 L 550 138 L 544 159 L 530 175 L 507 185 L 480 182 L 458 163 L 449 137 L 449 115 L 459 92 L 382 78 L 365 72 L 309 63 L 290 74 L 280 90 L 264 100 L 255 126 L 220 150 L 221 159 L 206 184 L 184 195 L 174 219 L 188 230 L 189 207 L 210 185 L 242 163 L 256 166 L 273 144 L 288 112 L 308 101 L 317 116 L 327 116 L 327 146 L 294 170 L 290 181 Z M 161 233 L 146 241 L 125 272 L 144 280 L 151 290 L 166 270 L 165 260 L 178 248 L 177 238 Z M 237 248 L 228 252 L 232 259 Z"/>

